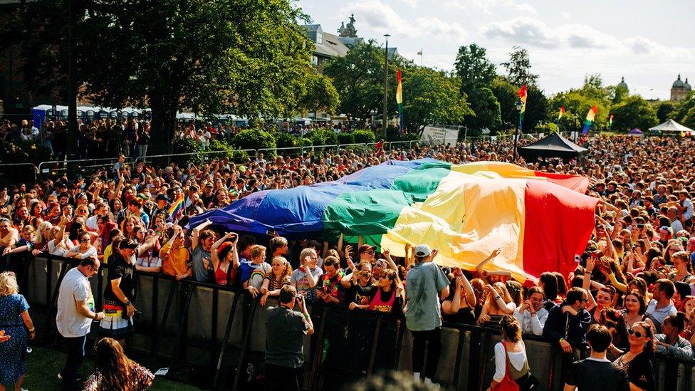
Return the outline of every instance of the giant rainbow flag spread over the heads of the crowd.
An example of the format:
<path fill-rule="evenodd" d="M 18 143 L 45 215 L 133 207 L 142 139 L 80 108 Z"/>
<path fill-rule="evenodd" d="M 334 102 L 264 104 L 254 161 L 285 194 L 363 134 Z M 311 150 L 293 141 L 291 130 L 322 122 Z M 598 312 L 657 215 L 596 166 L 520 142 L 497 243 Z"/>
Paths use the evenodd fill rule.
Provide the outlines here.
<path fill-rule="evenodd" d="M 404 256 L 404 244 L 439 249 L 435 261 L 474 269 L 494 249 L 491 269 L 517 278 L 573 270 L 594 227 L 597 199 L 586 177 L 501 162 L 451 165 L 390 160 L 335 182 L 249 194 L 192 217 L 237 232 L 288 239 L 364 236 Z"/>

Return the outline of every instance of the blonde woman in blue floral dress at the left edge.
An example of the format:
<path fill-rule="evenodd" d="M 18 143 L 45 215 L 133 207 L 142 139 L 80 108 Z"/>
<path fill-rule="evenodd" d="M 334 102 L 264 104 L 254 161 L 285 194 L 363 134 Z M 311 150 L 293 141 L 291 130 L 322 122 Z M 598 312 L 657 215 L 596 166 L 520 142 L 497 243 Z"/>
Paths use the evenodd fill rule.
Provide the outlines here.
<path fill-rule="evenodd" d="M 0 273 L 0 325 L 10 339 L 0 343 L 0 391 L 14 383 L 21 390 L 26 374 L 27 337 L 33 339 L 29 305 L 19 294 L 19 286 L 13 272 Z"/>

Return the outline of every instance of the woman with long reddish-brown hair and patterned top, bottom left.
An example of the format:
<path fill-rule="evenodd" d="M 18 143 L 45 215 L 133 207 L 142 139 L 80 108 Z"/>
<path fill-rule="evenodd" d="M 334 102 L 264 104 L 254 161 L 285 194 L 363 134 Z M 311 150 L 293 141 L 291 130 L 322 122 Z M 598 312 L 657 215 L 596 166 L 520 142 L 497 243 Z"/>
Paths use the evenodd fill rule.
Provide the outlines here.
<path fill-rule="evenodd" d="M 155 381 L 155 375 L 127 358 L 113 338 L 100 340 L 94 353 L 94 372 L 85 382 L 85 391 L 140 391 L 147 390 Z"/>

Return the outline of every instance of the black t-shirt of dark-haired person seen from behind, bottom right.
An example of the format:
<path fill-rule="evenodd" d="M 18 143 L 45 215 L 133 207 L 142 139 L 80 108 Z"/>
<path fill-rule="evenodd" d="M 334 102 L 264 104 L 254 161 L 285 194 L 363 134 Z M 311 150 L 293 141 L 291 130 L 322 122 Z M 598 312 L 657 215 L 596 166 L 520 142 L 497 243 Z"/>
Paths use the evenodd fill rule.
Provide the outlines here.
<path fill-rule="evenodd" d="M 610 361 L 579 360 L 572 364 L 568 385 L 575 385 L 579 391 L 627 391 L 629 384 L 625 372 Z"/>

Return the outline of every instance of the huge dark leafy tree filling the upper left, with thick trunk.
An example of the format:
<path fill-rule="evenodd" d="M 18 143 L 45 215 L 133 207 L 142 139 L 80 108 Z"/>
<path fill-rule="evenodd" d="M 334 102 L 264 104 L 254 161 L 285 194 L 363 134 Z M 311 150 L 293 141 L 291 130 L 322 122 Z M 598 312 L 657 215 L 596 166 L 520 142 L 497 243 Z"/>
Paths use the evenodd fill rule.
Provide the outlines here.
<path fill-rule="evenodd" d="M 27 80 L 65 85 L 68 4 L 83 16 L 80 92 L 97 105 L 150 108 L 155 152 L 171 150 L 177 111 L 279 116 L 310 71 L 306 18 L 286 0 L 37 0 L 4 28 L 32 58 Z"/>

